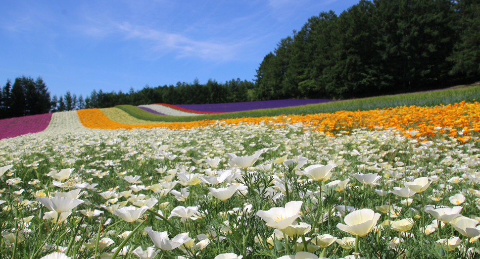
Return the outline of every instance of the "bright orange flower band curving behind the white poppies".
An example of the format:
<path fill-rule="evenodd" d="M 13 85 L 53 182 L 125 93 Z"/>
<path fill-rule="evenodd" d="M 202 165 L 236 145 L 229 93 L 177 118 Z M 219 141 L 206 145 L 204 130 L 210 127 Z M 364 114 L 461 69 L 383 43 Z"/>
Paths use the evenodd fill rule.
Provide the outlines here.
<path fill-rule="evenodd" d="M 108 119 L 98 109 L 77 110 L 82 124 L 87 128 L 97 129 L 134 129 L 166 127 L 169 129 L 189 129 L 205 127 L 218 123 L 218 120 L 199 120 L 192 122 L 168 122 L 153 124 L 122 124 Z M 480 104 L 461 102 L 457 104 L 437 105 L 433 107 L 399 106 L 386 109 L 365 111 L 337 111 L 333 113 L 317 113 L 307 115 L 280 115 L 274 117 L 243 117 L 224 119 L 225 124 L 260 123 L 281 125 L 282 123 L 303 123 L 311 129 L 325 132 L 328 135 L 349 131 L 355 128 L 379 127 L 398 129 L 406 136 L 434 136 L 447 131 L 449 136 L 467 141 L 470 131 L 480 130 Z M 413 130 L 417 132 L 413 132 Z"/>

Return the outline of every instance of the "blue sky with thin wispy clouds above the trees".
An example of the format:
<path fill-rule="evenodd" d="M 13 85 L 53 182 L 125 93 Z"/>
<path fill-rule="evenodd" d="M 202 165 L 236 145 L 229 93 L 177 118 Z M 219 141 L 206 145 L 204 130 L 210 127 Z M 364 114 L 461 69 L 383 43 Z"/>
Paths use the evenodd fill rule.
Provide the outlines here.
<path fill-rule="evenodd" d="M 282 38 L 358 0 L 0 2 L 0 84 L 21 75 L 50 94 L 253 80 Z"/>

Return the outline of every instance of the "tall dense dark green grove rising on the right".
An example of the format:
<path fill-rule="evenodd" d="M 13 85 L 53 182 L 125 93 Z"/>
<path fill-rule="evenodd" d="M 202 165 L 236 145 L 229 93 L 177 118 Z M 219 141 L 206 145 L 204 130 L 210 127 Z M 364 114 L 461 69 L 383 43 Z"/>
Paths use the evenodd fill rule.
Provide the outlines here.
<path fill-rule="evenodd" d="M 348 99 L 480 79 L 480 0 L 360 0 L 322 12 L 261 62 L 258 100 Z"/>

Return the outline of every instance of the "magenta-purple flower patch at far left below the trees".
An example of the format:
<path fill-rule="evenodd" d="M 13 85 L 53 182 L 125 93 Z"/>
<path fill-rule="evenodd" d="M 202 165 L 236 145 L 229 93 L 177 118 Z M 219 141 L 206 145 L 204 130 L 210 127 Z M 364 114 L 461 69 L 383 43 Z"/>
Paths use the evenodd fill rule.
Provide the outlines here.
<path fill-rule="evenodd" d="M 44 131 L 50 123 L 51 113 L 0 120 L 0 139 Z"/>

